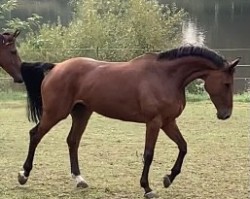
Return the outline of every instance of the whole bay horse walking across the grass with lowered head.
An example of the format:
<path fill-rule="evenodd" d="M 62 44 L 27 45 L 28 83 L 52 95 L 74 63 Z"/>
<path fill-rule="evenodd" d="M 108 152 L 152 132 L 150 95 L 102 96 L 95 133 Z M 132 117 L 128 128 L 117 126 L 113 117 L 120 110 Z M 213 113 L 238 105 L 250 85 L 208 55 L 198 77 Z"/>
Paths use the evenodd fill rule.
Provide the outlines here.
<path fill-rule="evenodd" d="M 187 143 L 177 124 L 185 108 L 185 87 L 197 78 L 225 120 L 233 109 L 233 77 L 240 58 L 227 61 L 211 49 L 181 46 L 160 53 L 146 53 L 127 62 L 107 62 L 76 57 L 61 63 L 23 63 L 21 72 L 28 91 L 30 130 L 28 155 L 18 181 L 25 184 L 33 166 L 37 145 L 49 130 L 69 114 L 67 137 L 71 173 L 78 187 L 88 187 L 80 174 L 78 147 L 93 112 L 146 124 L 144 166 L 140 185 L 144 196 L 157 197 L 148 174 L 160 129 L 174 141 L 179 154 L 171 173 L 163 178 L 169 187 L 181 172 Z M 46 75 L 45 75 L 46 74 Z"/>

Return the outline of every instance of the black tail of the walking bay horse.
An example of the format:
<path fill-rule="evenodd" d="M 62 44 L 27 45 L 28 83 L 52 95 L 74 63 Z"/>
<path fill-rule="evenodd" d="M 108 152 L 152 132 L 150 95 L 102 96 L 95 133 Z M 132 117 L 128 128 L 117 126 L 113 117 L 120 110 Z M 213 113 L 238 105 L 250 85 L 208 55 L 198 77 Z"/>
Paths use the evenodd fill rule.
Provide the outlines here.
<path fill-rule="evenodd" d="M 51 70 L 55 64 L 34 62 L 23 62 L 21 73 L 27 90 L 27 115 L 29 121 L 38 123 L 42 116 L 41 84 L 44 79 L 44 72 Z"/>

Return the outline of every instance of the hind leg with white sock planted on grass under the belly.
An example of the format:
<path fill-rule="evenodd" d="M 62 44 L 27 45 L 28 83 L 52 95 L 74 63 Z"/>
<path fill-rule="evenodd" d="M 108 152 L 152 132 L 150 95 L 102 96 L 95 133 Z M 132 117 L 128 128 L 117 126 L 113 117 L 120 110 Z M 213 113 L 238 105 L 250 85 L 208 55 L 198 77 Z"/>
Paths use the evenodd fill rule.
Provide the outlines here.
<path fill-rule="evenodd" d="M 81 176 L 78 162 L 78 148 L 81 137 L 88 124 L 88 120 L 92 114 L 92 111 L 86 109 L 82 104 L 76 104 L 71 112 L 72 126 L 67 137 L 67 144 L 69 148 L 69 157 L 71 165 L 71 174 L 75 179 L 77 187 L 88 187 L 87 182 Z"/>

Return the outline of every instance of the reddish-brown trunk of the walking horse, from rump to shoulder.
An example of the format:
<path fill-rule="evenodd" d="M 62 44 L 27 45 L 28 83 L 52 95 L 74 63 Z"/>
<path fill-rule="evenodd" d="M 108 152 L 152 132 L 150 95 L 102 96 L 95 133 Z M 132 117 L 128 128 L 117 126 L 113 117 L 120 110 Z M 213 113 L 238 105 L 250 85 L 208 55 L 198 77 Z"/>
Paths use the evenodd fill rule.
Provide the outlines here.
<path fill-rule="evenodd" d="M 107 117 L 145 122 L 172 98 L 160 68 L 155 67 L 147 59 L 104 62 L 72 58 L 58 63 L 46 76 L 43 98 L 50 101 L 46 104 L 55 104 L 56 99 L 56 106 L 65 113 L 81 102 Z"/>

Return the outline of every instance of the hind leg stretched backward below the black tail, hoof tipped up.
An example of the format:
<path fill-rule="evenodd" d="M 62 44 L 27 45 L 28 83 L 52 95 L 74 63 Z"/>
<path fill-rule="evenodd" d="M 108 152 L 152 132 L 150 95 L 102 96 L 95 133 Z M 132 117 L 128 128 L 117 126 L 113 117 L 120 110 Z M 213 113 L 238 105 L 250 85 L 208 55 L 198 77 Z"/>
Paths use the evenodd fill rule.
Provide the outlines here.
<path fill-rule="evenodd" d="M 30 172 L 33 167 L 33 160 L 36 147 L 46 133 L 58 122 L 59 120 L 53 117 L 53 114 L 42 115 L 40 123 L 30 130 L 30 143 L 27 158 L 23 165 L 23 170 L 18 173 L 18 181 L 21 185 L 25 184 L 28 180 Z"/>

